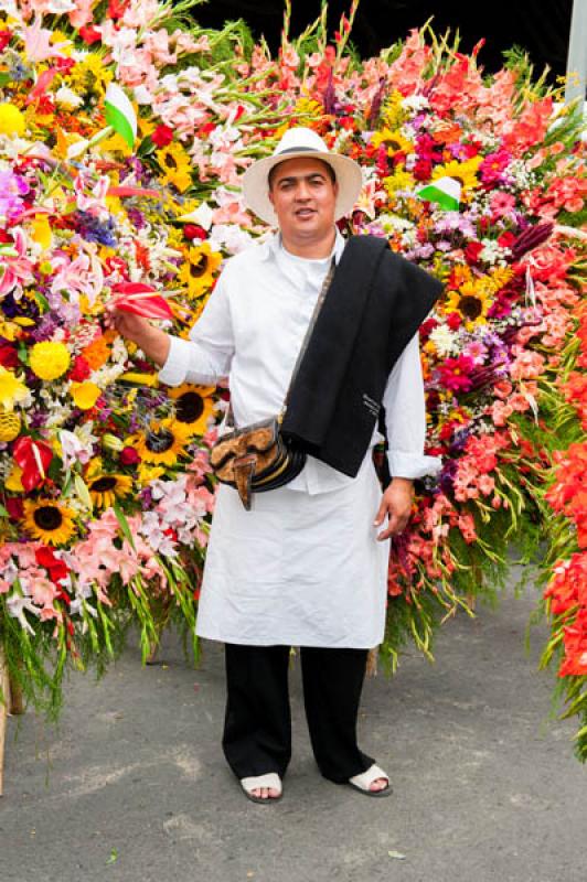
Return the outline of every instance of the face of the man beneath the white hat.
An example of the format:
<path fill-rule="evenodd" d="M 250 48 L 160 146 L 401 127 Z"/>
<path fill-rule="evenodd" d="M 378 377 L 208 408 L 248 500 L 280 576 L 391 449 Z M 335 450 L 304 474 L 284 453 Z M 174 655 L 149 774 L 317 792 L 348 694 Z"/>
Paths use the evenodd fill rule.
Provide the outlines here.
<path fill-rule="evenodd" d="M 334 224 L 339 185 L 318 159 L 288 159 L 276 166 L 269 198 L 284 241 L 312 243 L 328 236 Z"/>

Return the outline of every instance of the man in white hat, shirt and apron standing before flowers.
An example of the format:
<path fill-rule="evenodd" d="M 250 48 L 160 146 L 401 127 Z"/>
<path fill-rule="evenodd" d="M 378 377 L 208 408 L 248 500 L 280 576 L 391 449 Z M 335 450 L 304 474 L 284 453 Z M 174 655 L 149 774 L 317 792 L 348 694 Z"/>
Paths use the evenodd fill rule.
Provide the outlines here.
<path fill-rule="evenodd" d="M 329 152 L 316 132 L 290 129 L 273 157 L 247 170 L 243 185 L 248 207 L 267 223 L 277 224 L 279 233 L 226 261 L 190 340 L 170 337 L 147 320 L 121 312 L 114 315 L 116 327 L 162 366 L 159 376 L 166 384 L 213 384 L 227 376 L 236 426 L 276 416 L 327 272 L 350 247 L 335 220 L 351 211 L 361 185 L 361 170 L 354 161 Z M 385 260 L 391 260 L 384 244 L 376 245 L 382 245 Z M 407 265 L 393 258 L 402 260 L 402 267 Z M 359 291 L 360 277 L 371 269 L 355 263 L 348 270 L 355 273 Z M 407 267 L 409 273 L 419 273 L 416 288 L 421 286 L 420 277 L 424 287 L 437 284 L 418 268 Z M 392 272 L 396 272 L 395 263 Z M 355 298 L 354 288 L 341 292 L 344 278 L 340 273 L 334 273 L 334 280 L 339 293 L 334 297 L 333 281 L 330 309 L 332 314 L 340 305 L 337 320 L 342 330 L 340 340 L 327 340 L 333 370 L 346 345 L 345 298 L 351 306 Z M 375 306 L 365 308 L 372 313 L 383 309 L 376 305 L 383 301 L 376 286 L 371 289 L 378 298 Z M 383 291 L 383 299 L 385 295 Z M 309 388 L 311 381 L 307 384 L 307 392 L 320 395 L 323 389 L 324 401 L 331 399 L 333 419 L 342 420 L 342 434 L 333 442 L 331 439 L 323 451 L 310 445 L 316 456 L 308 456 L 302 472 L 286 486 L 255 494 L 252 510 L 244 509 L 235 490 L 220 486 L 198 633 L 225 644 L 223 747 L 254 802 L 267 804 L 281 796 L 281 779 L 291 755 L 291 646 L 300 647 L 306 713 L 322 775 L 369 796 L 391 793 L 386 773 L 359 750 L 356 718 L 367 652 L 384 635 L 389 537 L 401 533 L 409 518 L 414 478 L 437 469 L 437 461 L 424 455 L 424 389 L 415 333 L 436 295 L 436 289 L 434 295 L 426 294 L 416 312 L 408 303 L 409 322 L 404 325 L 409 329 L 409 340 L 401 341 L 393 369 L 382 375 L 383 395 L 363 391 L 361 406 L 367 410 L 361 413 L 356 405 L 349 405 L 352 420 L 356 413 L 357 431 L 361 423 L 361 431 L 364 434 L 366 427 L 369 435 L 353 466 L 346 467 L 346 454 L 353 447 L 348 440 L 354 423 L 349 424 L 349 416 L 339 412 L 352 395 L 344 385 L 340 394 L 339 387 L 332 387 L 330 363 L 320 363 L 320 353 L 318 362 L 312 362 L 312 336 L 306 357 L 310 358 L 310 377 L 312 364 L 318 367 L 318 384 L 313 389 Z M 405 305 L 410 297 L 409 291 L 407 298 L 402 291 L 401 303 Z M 397 321 L 402 324 L 403 320 Z M 328 322 L 327 318 L 327 337 Z M 385 322 L 385 336 L 378 336 L 386 341 L 389 335 L 396 345 L 387 324 L 389 321 Z M 351 337 L 357 340 L 349 346 L 350 353 L 360 352 L 361 342 L 366 344 L 364 352 L 370 351 L 370 340 L 361 341 L 365 327 L 366 319 L 348 322 Z M 377 336 L 376 330 L 370 333 Z M 360 373 L 357 364 L 350 380 Z M 371 379 L 365 378 L 367 388 Z M 301 402 L 299 431 L 303 438 L 303 391 L 297 400 Z M 373 422 L 380 405 L 385 408 L 393 475 L 383 495 L 372 458 L 377 440 Z M 342 441 L 337 449 L 338 438 Z M 337 456 L 340 467 L 329 464 L 338 462 Z"/>

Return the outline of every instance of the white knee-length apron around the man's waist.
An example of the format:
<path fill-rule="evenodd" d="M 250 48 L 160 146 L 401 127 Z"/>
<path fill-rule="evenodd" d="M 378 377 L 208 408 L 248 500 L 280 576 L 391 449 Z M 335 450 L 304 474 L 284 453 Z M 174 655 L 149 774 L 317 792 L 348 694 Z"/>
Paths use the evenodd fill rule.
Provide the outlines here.
<path fill-rule="evenodd" d="M 383 639 L 389 540 L 373 520 L 381 485 L 370 450 L 329 493 L 218 490 L 196 632 L 253 646 L 371 648 Z"/>

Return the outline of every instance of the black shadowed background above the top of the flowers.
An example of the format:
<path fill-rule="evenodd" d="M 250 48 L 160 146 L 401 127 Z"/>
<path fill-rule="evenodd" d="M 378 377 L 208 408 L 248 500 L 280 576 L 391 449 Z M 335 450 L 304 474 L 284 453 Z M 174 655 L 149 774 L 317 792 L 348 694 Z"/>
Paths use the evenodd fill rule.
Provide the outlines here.
<path fill-rule="evenodd" d="M 350 0 L 329 2 L 329 31 L 338 26 Z M 573 0 L 361 0 L 351 40 L 362 57 L 377 55 L 382 49 L 403 40 L 412 28 L 420 28 L 431 15 L 437 34 L 447 28 L 459 30 L 460 50 L 470 52 L 485 37 L 479 63 L 488 72 L 498 71 L 503 63 L 502 51 L 516 44 L 525 49 L 534 64 L 534 74 L 551 67 L 548 80 L 564 75 Z M 296 36 L 318 18 L 320 2 L 292 0 L 290 35 Z M 221 28 L 225 21 L 244 19 L 257 39 L 264 34 L 275 53 L 280 43 L 284 18 L 281 0 L 210 0 L 196 7 L 194 18 L 204 26 Z"/>

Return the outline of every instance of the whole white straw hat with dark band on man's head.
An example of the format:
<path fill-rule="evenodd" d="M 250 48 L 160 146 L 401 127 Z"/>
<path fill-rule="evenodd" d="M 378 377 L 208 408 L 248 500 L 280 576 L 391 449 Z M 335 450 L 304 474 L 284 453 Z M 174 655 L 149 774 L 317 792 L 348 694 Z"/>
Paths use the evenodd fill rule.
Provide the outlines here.
<path fill-rule="evenodd" d="M 288 159 L 311 158 L 327 162 L 334 171 L 339 194 L 334 206 L 334 220 L 349 214 L 363 186 L 361 166 L 349 157 L 331 153 L 317 132 L 297 126 L 288 129 L 273 155 L 249 165 L 243 175 L 243 196 L 248 208 L 271 226 L 277 226 L 277 215 L 269 200 L 269 172 Z"/>

